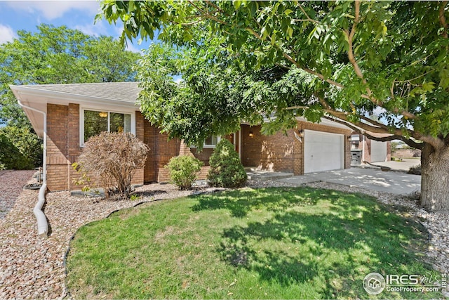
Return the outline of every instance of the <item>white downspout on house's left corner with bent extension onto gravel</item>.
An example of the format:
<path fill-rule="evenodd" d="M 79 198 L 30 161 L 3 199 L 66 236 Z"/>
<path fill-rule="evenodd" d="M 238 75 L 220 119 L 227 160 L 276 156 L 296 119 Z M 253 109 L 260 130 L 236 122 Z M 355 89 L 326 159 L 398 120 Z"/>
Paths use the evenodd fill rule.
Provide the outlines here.
<path fill-rule="evenodd" d="M 42 176 L 42 186 L 39 189 L 39 195 L 37 197 L 37 203 L 34 206 L 33 213 L 36 216 L 37 221 L 37 234 L 39 237 L 48 237 L 48 223 L 47 217 L 43 214 L 42 207 L 46 201 L 47 192 L 47 114 L 41 110 L 36 110 L 36 108 L 29 107 L 20 102 L 18 98 L 18 103 L 20 107 L 27 108 L 28 110 L 33 110 L 34 112 L 39 112 L 43 115 L 43 176 Z"/>

